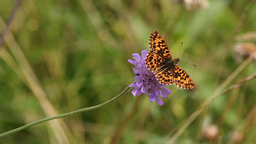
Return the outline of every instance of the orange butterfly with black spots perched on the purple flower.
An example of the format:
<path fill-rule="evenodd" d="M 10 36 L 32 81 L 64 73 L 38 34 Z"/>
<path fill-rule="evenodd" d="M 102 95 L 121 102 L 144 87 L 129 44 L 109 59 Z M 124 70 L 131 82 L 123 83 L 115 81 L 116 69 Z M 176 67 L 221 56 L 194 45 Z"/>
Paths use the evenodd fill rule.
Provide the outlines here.
<path fill-rule="evenodd" d="M 179 58 L 172 59 L 171 52 L 160 34 L 153 30 L 149 38 L 150 51 L 145 63 L 163 85 L 177 85 L 184 89 L 194 89 L 190 76 L 180 66 Z"/>

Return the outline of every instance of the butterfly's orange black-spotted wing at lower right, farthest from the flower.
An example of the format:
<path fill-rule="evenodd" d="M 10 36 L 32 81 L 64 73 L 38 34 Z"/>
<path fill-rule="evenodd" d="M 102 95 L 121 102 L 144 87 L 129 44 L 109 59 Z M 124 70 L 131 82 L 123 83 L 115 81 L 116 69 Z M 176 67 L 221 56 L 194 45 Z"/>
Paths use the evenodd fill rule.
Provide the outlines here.
<path fill-rule="evenodd" d="M 195 85 L 190 76 L 181 67 L 175 65 L 173 72 L 174 84 L 184 89 L 194 89 Z"/>

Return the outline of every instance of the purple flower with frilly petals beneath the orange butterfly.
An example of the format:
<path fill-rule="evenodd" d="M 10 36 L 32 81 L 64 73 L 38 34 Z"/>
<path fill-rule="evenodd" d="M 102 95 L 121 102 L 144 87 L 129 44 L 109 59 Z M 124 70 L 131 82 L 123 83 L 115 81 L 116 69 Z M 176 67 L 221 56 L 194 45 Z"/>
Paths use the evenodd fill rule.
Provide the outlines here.
<path fill-rule="evenodd" d="M 165 88 L 167 85 L 159 83 L 155 78 L 154 73 L 147 68 L 145 63 L 147 54 L 148 51 L 143 50 L 141 56 L 138 53 L 132 54 L 135 61 L 128 59 L 128 62 L 135 65 L 135 68 L 132 69 L 136 74 L 136 82 L 130 85 L 130 87 L 134 87 L 131 93 L 136 96 L 147 92 L 147 96 L 151 102 L 157 101 L 158 105 L 164 105 L 164 102 L 159 95 L 161 95 L 162 98 L 167 98 L 167 95 L 169 95 L 171 91 L 168 88 Z"/>

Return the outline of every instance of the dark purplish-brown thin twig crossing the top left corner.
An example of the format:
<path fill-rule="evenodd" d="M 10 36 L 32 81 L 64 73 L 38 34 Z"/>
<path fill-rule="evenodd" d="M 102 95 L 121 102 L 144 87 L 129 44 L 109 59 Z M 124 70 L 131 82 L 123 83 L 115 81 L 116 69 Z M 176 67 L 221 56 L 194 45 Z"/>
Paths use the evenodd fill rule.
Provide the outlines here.
<path fill-rule="evenodd" d="M 1 50 L 1 46 L 3 45 L 4 36 L 6 35 L 8 29 L 9 29 L 11 23 L 12 23 L 13 17 L 15 15 L 16 11 L 18 10 L 18 7 L 20 6 L 20 2 L 21 2 L 21 0 L 16 0 L 15 4 L 13 6 L 13 10 L 10 14 L 10 17 L 9 17 L 7 23 L 6 23 L 6 26 L 3 29 L 3 33 L 2 33 L 1 38 L 0 38 L 0 50 Z"/>

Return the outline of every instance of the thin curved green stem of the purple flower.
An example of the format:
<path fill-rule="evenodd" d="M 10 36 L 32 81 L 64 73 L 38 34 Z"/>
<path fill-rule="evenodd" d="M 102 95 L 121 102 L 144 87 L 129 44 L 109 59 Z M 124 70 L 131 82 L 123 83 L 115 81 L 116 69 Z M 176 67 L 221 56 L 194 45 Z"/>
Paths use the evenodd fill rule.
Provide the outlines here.
<path fill-rule="evenodd" d="M 136 82 L 136 81 L 135 81 L 135 82 Z M 135 83 L 135 82 L 133 82 L 133 83 Z M 130 85 L 129 85 L 129 86 L 130 86 Z M 21 131 L 21 130 L 23 130 L 23 129 L 29 128 L 29 127 L 31 127 L 31 126 L 33 126 L 33 125 L 40 124 L 40 123 L 45 122 L 45 121 L 53 120 L 53 119 L 56 119 L 56 118 L 63 118 L 63 117 L 66 117 L 66 116 L 69 116 L 69 115 L 74 115 L 74 114 L 81 113 L 81 112 L 84 112 L 84 111 L 91 111 L 91 110 L 95 110 L 95 109 L 97 109 L 97 108 L 101 108 L 101 107 L 103 107 L 103 106 L 105 106 L 105 105 L 108 105 L 108 104 L 110 104 L 111 102 L 117 100 L 118 98 L 121 98 L 123 95 L 125 95 L 125 94 L 131 89 L 129 86 L 128 86 L 127 88 L 125 88 L 125 90 L 124 90 L 123 92 L 121 92 L 119 95 L 117 95 L 116 97 L 114 97 L 114 98 L 112 98 L 112 99 L 110 99 L 110 100 L 108 100 L 108 101 L 106 101 L 106 102 L 104 102 L 104 103 L 102 103 L 102 104 L 100 104 L 100 105 L 95 105 L 95 106 L 92 106 L 92 107 L 89 107 L 89 108 L 83 108 L 83 109 L 79 109 L 79 110 L 76 110 L 76 111 L 72 111 L 72 112 L 69 112 L 69 113 L 66 113 L 66 114 L 56 115 L 56 116 L 54 116 L 54 117 L 44 118 L 44 119 L 41 119 L 41 120 L 39 120 L 39 121 L 34 121 L 34 122 L 32 122 L 32 123 L 30 123 L 30 124 L 26 124 L 26 125 L 24 125 L 24 126 L 22 126 L 22 127 L 20 127 L 20 128 L 16 128 L 16 129 L 14 129 L 14 130 L 7 131 L 7 132 L 5 132 L 5 133 L 3 133 L 3 134 L 0 134 L 0 137 L 3 137 L 3 136 L 5 136 L 5 135 L 7 135 L 7 134 L 12 134 L 12 133 Z"/>

